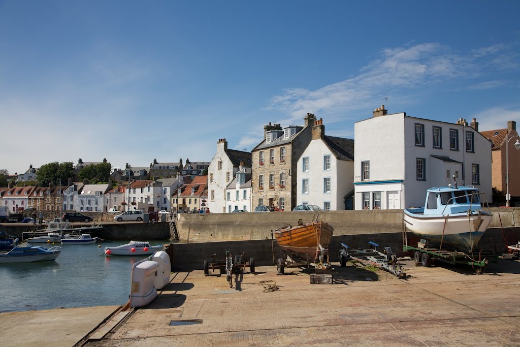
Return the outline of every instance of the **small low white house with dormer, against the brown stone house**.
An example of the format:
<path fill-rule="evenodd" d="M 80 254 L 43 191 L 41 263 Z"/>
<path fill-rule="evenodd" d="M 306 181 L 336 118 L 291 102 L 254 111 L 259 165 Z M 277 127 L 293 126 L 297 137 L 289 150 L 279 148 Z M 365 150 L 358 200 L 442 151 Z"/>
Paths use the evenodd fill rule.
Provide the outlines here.
<path fill-rule="evenodd" d="M 251 212 L 251 168 L 240 165 L 235 179 L 226 188 L 226 212 Z"/>

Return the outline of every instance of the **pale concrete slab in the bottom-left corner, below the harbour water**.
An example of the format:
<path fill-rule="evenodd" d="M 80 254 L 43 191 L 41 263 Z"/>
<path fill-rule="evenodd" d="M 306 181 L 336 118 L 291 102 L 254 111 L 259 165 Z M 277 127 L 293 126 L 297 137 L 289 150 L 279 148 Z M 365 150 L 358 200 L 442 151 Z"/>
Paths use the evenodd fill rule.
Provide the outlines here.
<path fill-rule="evenodd" d="M 73 346 L 120 307 L 0 313 L 0 345 Z"/>

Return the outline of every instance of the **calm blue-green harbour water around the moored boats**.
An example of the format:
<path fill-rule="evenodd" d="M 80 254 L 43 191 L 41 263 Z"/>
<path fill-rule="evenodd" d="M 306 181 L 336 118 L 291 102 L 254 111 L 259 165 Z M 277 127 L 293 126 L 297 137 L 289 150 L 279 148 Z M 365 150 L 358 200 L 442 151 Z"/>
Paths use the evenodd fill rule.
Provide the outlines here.
<path fill-rule="evenodd" d="M 56 261 L 0 264 L 0 312 L 126 303 L 132 265 L 148 255 L 103 255 L 105 247 L 125 243 L 63 245 Z M 170 241 L 150 242 L 163 243 Z"/>

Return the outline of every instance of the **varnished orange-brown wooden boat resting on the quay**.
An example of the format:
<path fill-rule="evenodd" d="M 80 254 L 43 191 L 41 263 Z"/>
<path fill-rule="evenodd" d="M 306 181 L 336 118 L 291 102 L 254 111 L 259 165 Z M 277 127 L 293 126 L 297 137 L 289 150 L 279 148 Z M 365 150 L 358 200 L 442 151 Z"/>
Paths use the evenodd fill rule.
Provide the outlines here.
<path fill-rule="evenodd" d="M 304 257 L 309 256 L 311 260 L 318 258 L 320 246 L 324 249 L 329 248 L 333 233 L 334 228 L 323 221 L 287 225 L 274 232 L 278 246 Z"/>

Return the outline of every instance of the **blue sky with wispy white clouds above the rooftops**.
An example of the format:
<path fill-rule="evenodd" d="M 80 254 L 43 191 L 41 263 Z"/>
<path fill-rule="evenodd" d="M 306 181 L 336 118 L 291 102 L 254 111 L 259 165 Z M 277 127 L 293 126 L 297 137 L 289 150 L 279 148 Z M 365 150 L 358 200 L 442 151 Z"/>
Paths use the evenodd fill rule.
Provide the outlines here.
<path fill-rule="evenodd" d="M 518 1 L 2 1 L 0 169 L 211 161 L 268 122 L 520 125 Z M 388 101 L 384 100 L 387 97 Z"/>

